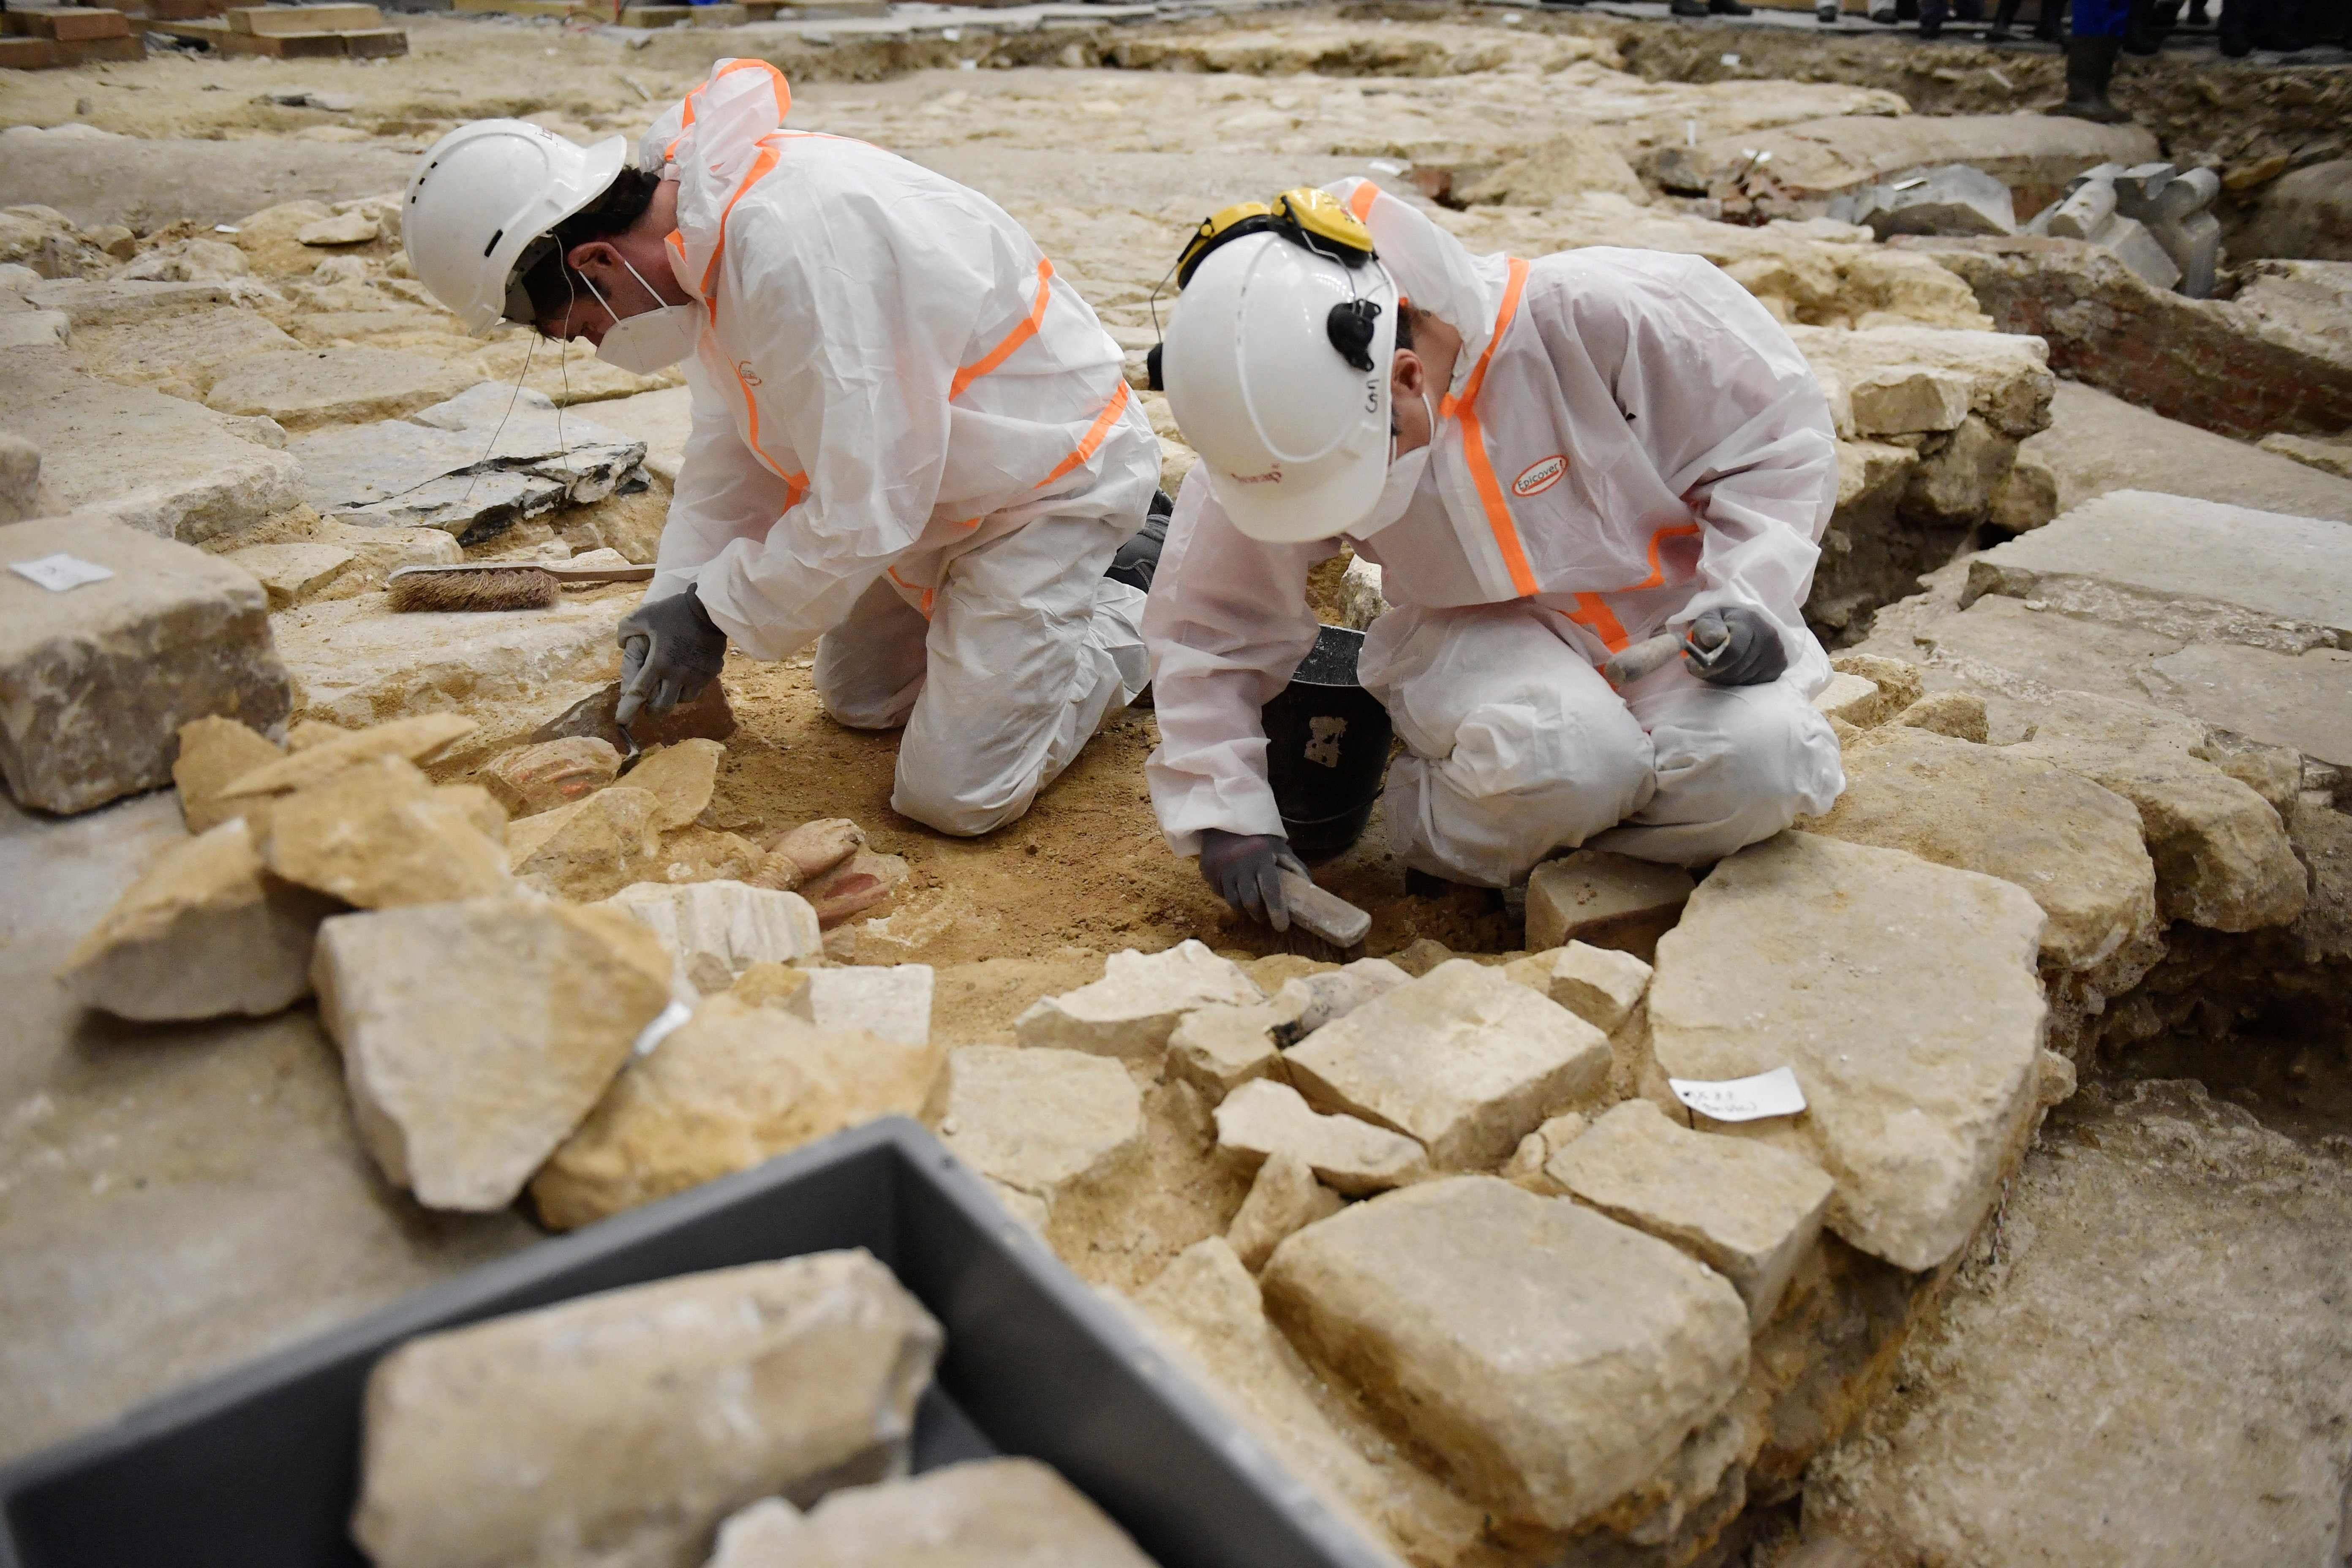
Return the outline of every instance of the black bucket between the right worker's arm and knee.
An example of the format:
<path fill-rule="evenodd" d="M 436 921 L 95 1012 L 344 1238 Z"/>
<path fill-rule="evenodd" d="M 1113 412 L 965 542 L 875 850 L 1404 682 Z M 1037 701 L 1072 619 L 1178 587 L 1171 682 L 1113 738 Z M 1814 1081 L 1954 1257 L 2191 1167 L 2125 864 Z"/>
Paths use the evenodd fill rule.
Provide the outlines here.
<path fill-rule="evenodd" d="M 1388 710 L 1355 679 L 1364 632 L 1327 625 L 1265 705 L 1265 778 L 1301 860 L 1348 853 L 1388 778 Z"/>

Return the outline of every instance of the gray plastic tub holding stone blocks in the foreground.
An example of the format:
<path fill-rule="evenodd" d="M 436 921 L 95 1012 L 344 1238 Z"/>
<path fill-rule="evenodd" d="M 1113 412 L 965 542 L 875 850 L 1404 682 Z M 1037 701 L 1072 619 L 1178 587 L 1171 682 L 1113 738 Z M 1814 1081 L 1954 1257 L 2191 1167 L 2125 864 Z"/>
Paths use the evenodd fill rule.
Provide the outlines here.
<path fill-rule="evenodd" d="M 9 1465 L 0 1568 L 358 1568 L 360 1394 L 402 1340 L 842 1246 L 896 1269 L 948 1331 L 915 1469 L 1044 1460 L 1162 1568 L 1395 1568 L 903 1117 L 543 1241 Z"/>

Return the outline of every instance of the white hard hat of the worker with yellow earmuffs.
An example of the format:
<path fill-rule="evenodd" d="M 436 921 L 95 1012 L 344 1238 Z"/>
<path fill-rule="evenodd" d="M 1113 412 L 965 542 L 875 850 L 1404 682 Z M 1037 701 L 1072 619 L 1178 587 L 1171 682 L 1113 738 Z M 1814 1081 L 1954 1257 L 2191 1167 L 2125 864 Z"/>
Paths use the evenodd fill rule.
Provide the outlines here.
<path fill-rule="evenodd" d="M 1350 346 L 1334 308 L 1364 317 Z M 1209 252 L 1176 296 L 1160 374 L 1232 527 L 1268 543 L 1331 538 L 1362 522 L 1388 477 L 1388 364 L 1397 284 L 1275 233 Z M 1348 353 L 1357 355 L 1350 364 Z"/>

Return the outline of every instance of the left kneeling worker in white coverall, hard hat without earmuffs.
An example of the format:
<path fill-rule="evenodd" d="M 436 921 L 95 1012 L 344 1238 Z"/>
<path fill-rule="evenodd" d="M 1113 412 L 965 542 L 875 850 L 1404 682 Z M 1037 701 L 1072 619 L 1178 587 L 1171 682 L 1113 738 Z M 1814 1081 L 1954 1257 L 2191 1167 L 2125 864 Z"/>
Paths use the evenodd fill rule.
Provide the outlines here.
<path fill-rule="evenodd" d="M 684 362 L 694 428 L 621 722 L 811 639 L 826 710 L 906 726 L 891 806 L 976 835 L 1028 811 L 1145 682 L 1160 442 L 1122 355 L 995 202 L 783 129 L 720 61 L 630 160 L 520 120 L 445 136 L 407 193 L 416 275 L 468 329 Z M 1134 557 L 1136 550 L 1129 550 Z"/>

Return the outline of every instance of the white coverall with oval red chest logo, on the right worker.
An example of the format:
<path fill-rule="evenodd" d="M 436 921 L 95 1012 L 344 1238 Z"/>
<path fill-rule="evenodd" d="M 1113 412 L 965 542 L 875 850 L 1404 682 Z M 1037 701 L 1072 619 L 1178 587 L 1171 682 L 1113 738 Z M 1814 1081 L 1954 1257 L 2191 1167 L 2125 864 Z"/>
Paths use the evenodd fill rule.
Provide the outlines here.
<path fill-rule="evenodd" d="M 1463 350 L 1402 522 L 1355 543 L 1395 609 L 1359 665 L 1406 745 L 1383 813 L 1399 858 L 1510 886 L 1564 846 L 1705 863 L 1844 790 L 1799 607 L 1837 501 L 1837 442 L 1778 322 L 1693 256 L 1472 256 L 1378 186 L 1331 186 L 1404 296 Z M 1244 536 L 1195 470 L 1143 630 L 1169 846 L 1282 832 L 1258 708 L 1315 642 L 1308 569 L 1334 541 Z M 1611 651 L 1710 607 L 1762 611 L 1788 672 L 1710 686 L 1682 661 L 1623 693 Z"/>

